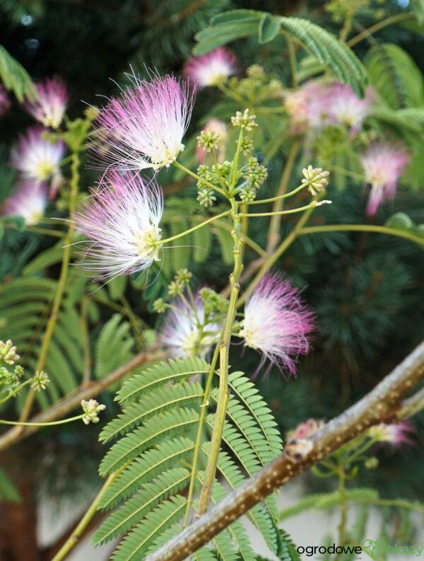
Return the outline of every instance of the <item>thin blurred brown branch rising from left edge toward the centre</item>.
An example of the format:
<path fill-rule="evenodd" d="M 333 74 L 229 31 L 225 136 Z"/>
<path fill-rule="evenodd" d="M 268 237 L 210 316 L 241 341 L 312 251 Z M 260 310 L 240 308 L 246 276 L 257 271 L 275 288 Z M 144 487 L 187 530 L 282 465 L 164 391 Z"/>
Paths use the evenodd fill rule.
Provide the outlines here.
<path fill-rule="evenodd" d="M 165 352 L 158 349 L 141 352 L 133 359 L 129 360 L 129 362 L 119 366 L 119 368 L 105 376 L 105 378 L 83 384 L 83 386 L 77 388 L 73 393 L 65 395 L 64 398 L 52 405 L 52 407 L 49 407 L 49 409 L 35 415 L 32 419 L 30 419 L 30 422 L 52 422 L 63 419 L 71 411 L 76 409 L 76 407 L 80 406 L 81 400 L 95 398 L 96 395 L 109 386 L 112 386 L 112 384 L 119 381 L 121 378 L 126 376 L 126 374 L 129 374 L 129 372 L 137 368 L 137 366 L 146 364 L 146 362 L 160 360 L 165 357 Z M 8 449 L 9 446 L 25 439 L 34 432 L 39 431 L 40 428 L 42 427 L 13 427 L 13 429 L 8 430 L 8 432 L 0 436 L 0 451 Z"/>

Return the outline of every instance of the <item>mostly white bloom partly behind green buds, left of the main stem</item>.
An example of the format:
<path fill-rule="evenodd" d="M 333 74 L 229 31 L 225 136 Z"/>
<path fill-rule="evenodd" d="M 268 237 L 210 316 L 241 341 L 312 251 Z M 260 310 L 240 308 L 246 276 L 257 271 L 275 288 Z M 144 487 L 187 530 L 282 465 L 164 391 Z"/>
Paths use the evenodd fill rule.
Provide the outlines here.
<path fill-rule="evenodd" d="M 218 341 L 220 325 L 205 323 L 205 311 L 199 294 L 194 295 L 194 308 L 188 299 L 178 299 L 163 318 L 160 340 L 173 358 L 206 357 Z"/>

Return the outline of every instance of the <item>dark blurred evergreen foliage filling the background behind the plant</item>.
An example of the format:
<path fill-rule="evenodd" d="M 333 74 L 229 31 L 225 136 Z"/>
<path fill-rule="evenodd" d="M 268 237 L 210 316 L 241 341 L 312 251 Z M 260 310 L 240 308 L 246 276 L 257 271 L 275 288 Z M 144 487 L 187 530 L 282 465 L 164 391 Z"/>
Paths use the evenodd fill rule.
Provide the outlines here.
<path fill-rule="evenodd" d="M 376 4 L 373 9 L 379 6 L 382 5 Z M 114 81 L 109 78 L 123 81 L 123 72 L 128 71 L 129 64 L 140 72 L 146 64 L 160 72 L 178 73 L 194 46 L 194 34 L 207 25 L 211 16 L 237 7 L 295 14 L 309 18 L 327 30 L 338 29 L 321 2 L 286 2 L 282 10 L 281 2 L 277 1 L 0 0 L 0 36 L 4 47 L 34 79 L 52 74 L 64 78 L 71 93 L 69 115 L 77 117 L 85 107 L 83 102 L 101 103 L 102 99 L 96 98 L 96 94 L 107 96 L 117 91 Z M 391 2 L 386 2 L 384 9 L 386 13 L 400 10 Z M 370 11 L 363 15 L 360 23 L 367 27 L 373 21 Z M 389 27 L 376 37 L 378 42 L 400 45 L 417 64 L 423 63 L 423 57 L 419 56 L 422 37 L 412 33 L 408 25 L 396 30 Z M 367 42 L 362 42 L 355 52 L 362 59 L 369 47 Z M 231 48 L 237 54 L 241 72 L 257 62 L 271 76 L 289 83 L 290 70 L 283 37 L 267 45 L 258 45 L 257 38 L 252 37 L 232 43 Z M 200 129 L 205 115 L 218 100 L 218 91 L 208 89 L 199 93 L 189 136 Z M 4 162 L 0 168 L 1 198 L 13 185 L 13 173 L 5 166 L 8 151 L 16 134 L 29 124 L 30 118 L 16 102 L 11 112 L 0 121 Z M 264 196 L 276 190 L 288 147 L 283 146 L 273 158 Z M 259 152 L 257 156 L 261 158 L 263 154 Z M 292 178 L 293 187 L 298 185 L 299 177 L 300 166 L 297 166 Z M 84 171 L 83 185 L 90 185 L 94 178 L 92 172 Z M 175 177 L 171 172 L 162 172 L 160 179 L 167 185 Z M 188 186 L 172 197 L 192 197 L 193 202 L 195 187 Z M 357 183 L 346 180 L 341 188 L 331 185 L 331 199 L 331 207 L 323 207 L 322 212 L 316 213 L 310 226 L 322 223 L 323 219 L 336 224 L 363 223 L 365 197 Z M 416 190 L 401 187 L 394 205 L 379 209 L 375 223 L 384 224 L 394 212 L 405 212 L 417 224 L 422 223 L 420 200 Z M 172 204 L 175 204 L 175 212 L 180 212 L 181 202 Z M 294 221 L 283 221 L 282 235 L 290 231 Z M 262 245 L 266 242 L 265 232 L 266 222 L 252 221 L 249 234 Z M 18 277 L 30 260 L 51 245 L 49 239 L 39 235 L 7 231 L 1 240 L 0 280 Z M 222 261 L 221 255 L 222 248 L 213 243 L 207 260 L 190 261 L 196 282 L 216 289 L 225 287 L 229 266 Z M 247 259 L 252 258 L 254 254 L 247 250 Z M 278 371 L 271 371 L 264 381 L 258 378 L 261 393 L 285 431 L 308 417 L 330 418 L 341 412 L 370 390 L 419 342 L 424 267 L 420 249 L 400 238 L 372 233 L 320 233 L 299 238 L 278 261 L 277 268 L 303 289 L 303 296 L 317 313 L 319 325 L 314 336 L 314 350 L 300 360 L 297 379 L 286 382 Z M 49 272 L 52 278 L 57 278 L 57 265 L 52 265 Z M 162 277 L 144 296 L 137 289 L 140 283 L 128 283 L 124 292 L 134 313 L 152 327 L 157 317 L 151 313 L 151 301 L 158 296 L 161 286 L 165 286 L 166 271 Z M 110 287 L 105 290 L 110 291 Z M 90 332 L 93 346 L 102 325 L 110 320 L 112 313 L 105 307 L 93 311 Z M 241 348 L 232 348 L 232 367 L 252 373 L 259 357 L 251 351 L 242 354 Z M 112 399 L 102 396 L 102 401 L 108 405 L 107 415 L 112 416 Z M 421 429 L 424 427 L 423 416 L 414 422 L 420 424 Z M 49 473 L 51 489 L 61 493 L 65 486 L 73 492 L 76 488 L 81 489 L 76 479 L 96 477 L 98 457 L 93 457 L 95 454 L 87 455 L 92 461 L 87 460 L 90 465 L 78 464 L 80 473 L 72 470 L 76 457 L 81 458 L 81 443 L 90 452 L 98 450 L 101 453 L 101 446 L 94 444 L 97 434 L 96 428 L 77 434 L 71 428 L 45 431 L 31 443 L 25 443 L 22 453 L 37 466 L 37 478 L 44 478 L 41 472 Z M 92 448 L 87 446 L 89 441 Z M 66 447 L 68 443 L 71 446 Z M 419 437 L 416 437 L 416 444 L 416 449 L 405 449 L 401 453 L 382 453 L 382 467 L 364 475 L 361 485 L 384 486 L 387 497 L 423 496 L 420 473 L 424 454 Z M 57 463 L 47 465 L 42 461 L 47 450 L 63 459 L 61 470 L 58 470 Z M 409 461 L 412 458 L 413 461 Z M 56 467 L 52 468 L 53 465 Z M 324 483 L 317 480 L 315 485 Z"/>

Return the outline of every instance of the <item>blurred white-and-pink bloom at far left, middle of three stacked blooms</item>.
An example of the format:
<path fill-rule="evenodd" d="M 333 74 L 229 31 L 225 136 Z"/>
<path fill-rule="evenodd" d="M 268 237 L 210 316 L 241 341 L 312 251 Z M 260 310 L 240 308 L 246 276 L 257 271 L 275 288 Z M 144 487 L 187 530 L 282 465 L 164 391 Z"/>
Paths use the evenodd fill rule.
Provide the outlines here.
<path fill-rule="evenodd" d="M 24 180 L 50 182 L 49 198 L 57 193 L 61 181 L 59 164 L 65 154 L 63 141 L 50 142 L 43 138 L 43 129 L 33 127 L 20 135 L 18 146 L 11 151 L 11 164 Z"/>

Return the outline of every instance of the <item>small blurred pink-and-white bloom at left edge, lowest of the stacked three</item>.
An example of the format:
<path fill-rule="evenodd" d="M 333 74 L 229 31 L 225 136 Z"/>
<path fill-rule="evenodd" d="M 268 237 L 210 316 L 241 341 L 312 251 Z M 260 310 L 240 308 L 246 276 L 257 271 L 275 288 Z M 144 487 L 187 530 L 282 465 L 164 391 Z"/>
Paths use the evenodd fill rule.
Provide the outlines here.
<path fill-rule="evenodd" d="M 37 224 L 47 207 L 47 185 L 25 181 L 3 205 L 6 216 L 21 216 L 25 224 Z"/>

